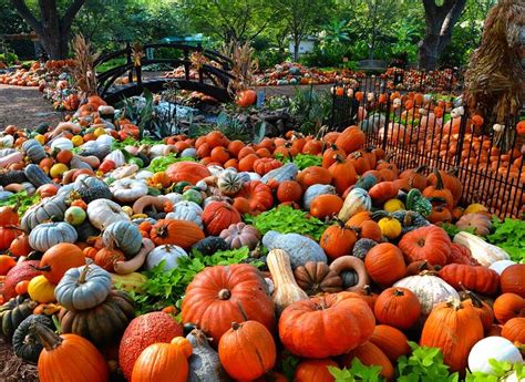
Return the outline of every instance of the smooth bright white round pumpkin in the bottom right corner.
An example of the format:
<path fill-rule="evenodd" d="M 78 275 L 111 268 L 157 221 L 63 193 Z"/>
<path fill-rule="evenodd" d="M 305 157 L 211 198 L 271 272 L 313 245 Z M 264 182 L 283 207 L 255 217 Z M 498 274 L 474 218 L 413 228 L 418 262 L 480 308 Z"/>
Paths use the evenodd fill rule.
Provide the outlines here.
<path fill-rule="evenodd" d="M 523 362 L 519 350 L 503 337 L 487 337 L 476 342 L 469 353 L 469 369 L 472 373 L 482 372 L 494 374 L 488 360 L 505 361 L 509 363 Z"/>

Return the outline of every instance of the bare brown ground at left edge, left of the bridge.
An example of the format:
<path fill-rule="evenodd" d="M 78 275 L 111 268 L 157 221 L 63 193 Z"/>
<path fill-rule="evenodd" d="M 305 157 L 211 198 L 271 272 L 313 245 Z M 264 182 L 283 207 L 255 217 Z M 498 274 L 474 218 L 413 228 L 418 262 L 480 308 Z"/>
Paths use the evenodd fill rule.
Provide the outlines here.
<path fill-rule="evenodd" d="M 0 131 L 8 125 L 23 128 L 35 127 L 42 122 L 56 125 L 62 117 L 37 87 L 0 84 Z"/>

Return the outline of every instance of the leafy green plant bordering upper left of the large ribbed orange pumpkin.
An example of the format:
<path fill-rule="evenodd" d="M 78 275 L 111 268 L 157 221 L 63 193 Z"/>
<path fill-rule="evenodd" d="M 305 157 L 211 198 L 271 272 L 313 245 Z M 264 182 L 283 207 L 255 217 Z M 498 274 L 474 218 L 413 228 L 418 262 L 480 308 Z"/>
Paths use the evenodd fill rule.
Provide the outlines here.
<path fill-rule="evenodd" d="M 136 311 L 144 314 L 150 311 L 161 310 L 167 306 L 181 308 L 186 287 L 195 276 L 206 267 L 228 266 L 239 264 L 247 259 L 249 249 L 217 251 L 212 256 L 192 252 L 189 257 L 178 259 L 178 267 L 164 270 L 164 260 L 150 271 L 144 272 L 147 281 L 143 286 L 143 292 L 128 292 L 136 303 Z M 119 286 L 117 286 L 119 287 Z"/>

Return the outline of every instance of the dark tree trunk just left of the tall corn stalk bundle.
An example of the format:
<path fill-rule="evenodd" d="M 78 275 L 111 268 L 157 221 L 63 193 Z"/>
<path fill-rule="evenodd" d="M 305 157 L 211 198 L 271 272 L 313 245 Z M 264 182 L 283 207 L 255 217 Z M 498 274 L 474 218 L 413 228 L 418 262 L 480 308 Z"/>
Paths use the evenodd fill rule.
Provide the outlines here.
<path fill-rule="evenodd" d="M 466 0 L 444 0 L 436 6 L 434 0 L 423 0 L 426 30 L 419 43 L 419 68 L 434 70 L 437 60 L 452 39 L 452 29 L 465 8 Z"/>

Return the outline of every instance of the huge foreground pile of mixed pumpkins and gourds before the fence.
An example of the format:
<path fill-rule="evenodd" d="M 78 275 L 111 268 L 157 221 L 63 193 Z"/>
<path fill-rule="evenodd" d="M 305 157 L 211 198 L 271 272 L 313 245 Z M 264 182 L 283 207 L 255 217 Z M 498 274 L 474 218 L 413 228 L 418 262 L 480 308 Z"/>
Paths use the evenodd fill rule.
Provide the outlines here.
<path fill-rule="evenodd" d="M 135 382 L 286 380 L 272 372 L 281 350 L 301 358 L 297 381 L 332 381 L 327 366 L 354 358 L 393 380 L 408 339 L 440 348 L 462 373 L 522 361 L 525 265 L 440 227 L 491 228 L 485 207 L 457 207 L 454 176 L 400 171 L 357 126 L 322 140 L 245 144 L 213 131 L 114 149 L 134 136 L 130 121 L 113 121 L 99 97 L 81 110 L 54 130 L 10 126 L 1 138 L 0 197 L 42 200 L 21 217 L 0 209 L 0 334 L 41 381 L 106 381 L 117 366 Z M 146 167 L 171 154 L 193 161 Z M 299 169 L 299 154 L 320 165 Z M 326 220 L 320 240 L 243 221 L 280 206 Z M 182 322 L 135 317 L 141 271 L 176 268 L 192 248 L 260 245 L 269 272 L 209 267 L 187 287 Z"/>

